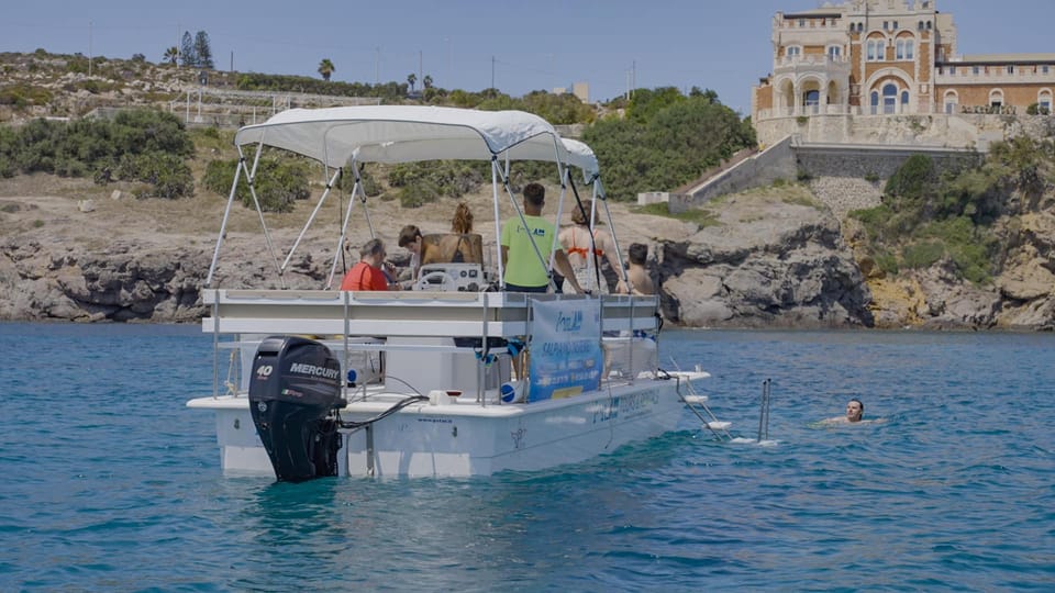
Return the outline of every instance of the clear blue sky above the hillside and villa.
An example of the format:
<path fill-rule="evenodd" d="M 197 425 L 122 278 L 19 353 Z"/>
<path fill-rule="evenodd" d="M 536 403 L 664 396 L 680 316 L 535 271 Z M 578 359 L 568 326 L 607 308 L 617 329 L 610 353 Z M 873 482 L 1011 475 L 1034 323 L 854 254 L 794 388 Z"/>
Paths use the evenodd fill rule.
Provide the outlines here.
<path fill-rule="evenodd" d="M 693 86 L 747 114 L 771 69 L 777 11 L 817 0 L 4 0 L 0 52 L 159 61 L 185 31 L 209 34 L 218 69 L 404 82 L 522 96 L 590 85 L 591 100 L 637 87 Z M 960 54 L 1055 53 L 1055 0 L 937 0 Z M 89 26 L 89 22 L 91 25 Z M 90 31 L 90 32 L 89 32 Z M 90 45 L 90 47 L 89 47 Z M 493 60 L 492 60 L 493 58 Z M 493 65 L 493 68 L 492 68 Z M 420 78 L 420 76 L 419 76 Z M 0 81 L 2 83 L 2 81 Z"/>

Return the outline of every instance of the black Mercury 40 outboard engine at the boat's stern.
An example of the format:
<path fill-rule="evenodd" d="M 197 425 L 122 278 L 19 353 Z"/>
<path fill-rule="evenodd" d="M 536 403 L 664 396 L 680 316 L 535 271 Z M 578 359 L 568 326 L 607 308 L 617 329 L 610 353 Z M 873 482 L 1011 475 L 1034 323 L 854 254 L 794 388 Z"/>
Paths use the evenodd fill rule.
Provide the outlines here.
<path fill-rule="evenodd" d="M 249 412 L 279 482 L 337 474 L 341 365 L 324 345 L 271 336 L 253 359 Z"/>

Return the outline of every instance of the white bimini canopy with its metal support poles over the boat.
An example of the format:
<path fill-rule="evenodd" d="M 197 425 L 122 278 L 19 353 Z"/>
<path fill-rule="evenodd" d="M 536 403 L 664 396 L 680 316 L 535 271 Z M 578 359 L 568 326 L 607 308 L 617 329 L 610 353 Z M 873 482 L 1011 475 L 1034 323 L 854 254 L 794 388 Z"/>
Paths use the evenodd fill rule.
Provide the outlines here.
<path fill-rule="evenodd" d="M 275 260 L 280 280 L 282 270 L 289 264 L 293 251 L 345 167 L 351 166 L 351 170 L 356 176 L 353 195 L 359 195 L 364 210 L 366 210 L 366 195 L 358 179 L 358 168 L 354 166 L 356 163 L 397 164 L 440 159 L 491 161 L 497 235 L 500 234 L 500 223 L 498 221 L 499 184 L 507 188 L 513 209 L 523 222 L 523 213 L 509 191 L 507 182 L 509 163 L 512 160 L 543 160 L 557 165 L 562 181 L 560 204 L 556 213 L 557 220 L 559 220 L 563 210 L 568 166 L 575 166 L 582 170 L 586 182 L 593 186 L 595 194 L 600 191 L 597 157 L 589 146 L 577 141 L 560 138 L 548 122 L 537 115 L 522 111 L 475 111 L 418 105 L 291 109 L 274 115 L 262 124 L 241 128 L 235 135 L 234 144 L 241 158 L 231 187 L 215 253 L 209 268 L 207 287 L 212 286 L 231 204 L 242 175 L 248 181 L 249 192 L 257 203 L 267 247 Z M 252 169 L 246 164 L 243 153 L 243 147 L 249 145 L 256 145 L 257 147 Z M 278 265 L 278 258 L 267 234 L 263 211 L 259 208 L 253 187 L 259 156 L 265 146 L 282 148 L 312 158 L 326 168 L 325 191 L 297 242 L 289 250 L 286 262 L 281 266 Z M 506 163 L 504 170 L 500 165 L 502 160 Z M 329 171 L 330 168 L 336 169 L 332 176 Z M 603 199 L 603 195 L 601 198 Z M 340 251 L 340 247 L 345 239 L 353 204 L 354 200 L 348 203 L 344 216 L 337 251 Z M 609 215 L 609 223 L 611 223 L 610 219 L 611 215 Z M 366 220 L 373 236 L 375 233 L 368 212 L 366 213 Z M 526 225 L 526 223 L 524 224 Z M 536 253 L 538 253 L 537 248 Z M 541 253 L 538 253 L 538 258 L 541 261 L 543 260 Z M 501 258 L 498 258 L 498 261 L 499 278 L 502 278 Z M 334 268 L 336 262 L 336 258 L 334 258 Z M 545 265 L 545 262 L 542 261 L 542 265 Z M 552 269 L 552 267 L 551 256 L 547 269 Z M 327 286 L 333 280 L 333 273 L 334 270 L 332 269 Z M 282 286 L 285 287 L 285 281 L 282 281 Z"/>

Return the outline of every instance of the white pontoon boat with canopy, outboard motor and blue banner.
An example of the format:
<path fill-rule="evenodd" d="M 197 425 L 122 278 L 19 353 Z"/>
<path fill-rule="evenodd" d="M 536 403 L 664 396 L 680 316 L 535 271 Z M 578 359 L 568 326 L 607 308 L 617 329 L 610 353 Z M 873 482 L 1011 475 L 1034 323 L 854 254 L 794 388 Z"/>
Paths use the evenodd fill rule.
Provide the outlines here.
<path fill-rule="evenodd" d="M 493 266 L 434 264 L 408 291 L 213 287 L 236 187 L 253 178 L 265 147 L 324 166 L 326 189 L 301 237 L 343 171 L 355 174 L 353 198 L 365 205 L 356 165 L 366 161 L 490 161 L 496 236 L 502 194 L 523 220 L 506 182 L 511 160 L 554 163 L 564 187 L 577 167 L 604 203 L 592 152 L 544 120 L 431 107 L 293 109 L 243 127 L 235 145 L 242 158 L 203 291 L 213 393 L 187 404 L 215 413 L 225 472 L 300 481 L 538 470 L 673 430 L 687 403 L 703 400 L 690 395 L 689 381 L 706 372 L 657 368 L 656 296 L 503 292 L 498 254 Z M 251 145 L 252 166 L 243 152 Z M 565 198 L 562 191 L 558 221 Z M 300 243 L 281 266 L 274 258 L 282 287 Z M 552 269 L 552 258 L 536 255 Z M 336 265 L 334 257 L 327 288 Z M 524 350 L 525 376 L 514 377 L 511 360 Z M 229 354 L 237 377 L 221 381 Z"/>

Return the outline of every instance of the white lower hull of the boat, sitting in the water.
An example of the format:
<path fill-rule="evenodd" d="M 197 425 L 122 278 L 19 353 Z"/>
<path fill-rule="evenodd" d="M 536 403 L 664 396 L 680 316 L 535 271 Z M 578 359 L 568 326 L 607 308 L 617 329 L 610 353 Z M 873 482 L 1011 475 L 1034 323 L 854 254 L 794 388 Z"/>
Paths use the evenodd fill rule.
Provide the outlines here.
<path fill-rule="evenodd" d="M 678 379 L 641 380 L 532 404 L 482 406 L 473 400 L 413 404 L 367 428 L 343 430 L 338 474 L 467 477 L 541 470 L 674 430 L 685 410 Z M 188 405 L 215 412 L 225 473 L 274 475 L 245 398 L 201 398 Z M 384 398 L 354 402 L 342 418 L 363 422 L 390 405 Z"/>

